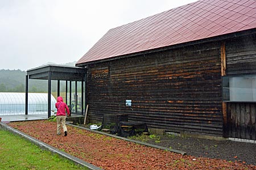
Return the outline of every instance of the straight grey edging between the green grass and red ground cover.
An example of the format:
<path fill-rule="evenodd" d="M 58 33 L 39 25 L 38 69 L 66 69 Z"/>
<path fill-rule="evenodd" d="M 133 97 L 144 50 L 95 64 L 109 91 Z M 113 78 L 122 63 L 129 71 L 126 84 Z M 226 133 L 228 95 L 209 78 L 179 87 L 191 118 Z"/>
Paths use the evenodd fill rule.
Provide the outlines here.
<path fill-rule="evenodd" d="M 35 139 L 35 138 L 33 138 L 33 137 L 31 137 L 27 134 L 24 134 L 19 130 L 11 128 L 10 126 L 4 124 L 3 122 L 0 122 L 0 129 L 5 129 L 5 130 L 8 130 L 8 131 L 11 131 L 11 133 L 18 134 L 21 137 L 26 138 L 28 141 L 30 141 L 30 142 L 34 143 L 35 145 L 39 146 L 43 150 L 49 150 L 54 154 L 58 154 L 58 155 L 60 155 L 61 157 L 65 158 L 65 159 L 71 160 L 73 163 L 75 163 L 77 165 L 81 165 L 82 167 L 87 167 L 87 168 L 92 169 L 92 170 L 102 170 L 101 168 L 96 167 L 93 164 L 87 163 L 84 160 L 81 160 L 79 158 L 76 158 L 75 156 L 69 155 L 66 152 L 60 151 L 55 147 L 52 147 L 52 146 L 50 146 L 50 145 L 48 145 L 48 144 L 46 144 L 42 141 L 39 141 L 38 139 Z"/>

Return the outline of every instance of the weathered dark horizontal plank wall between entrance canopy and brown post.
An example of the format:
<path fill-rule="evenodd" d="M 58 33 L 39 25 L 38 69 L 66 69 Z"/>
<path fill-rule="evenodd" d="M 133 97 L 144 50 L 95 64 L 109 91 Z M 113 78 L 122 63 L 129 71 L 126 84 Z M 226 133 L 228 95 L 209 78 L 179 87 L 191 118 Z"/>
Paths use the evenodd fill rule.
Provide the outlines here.
<path fill-rule="evenodd" d="M 129 114 L 129 121 L 149 128 L 222 136 L 220 46 L 186 46 L 89 65 L 89 120 Z M 105 67 L 107 78 L 90 77 Z M 132 100 L 132 107 L 125 100 Z"/>

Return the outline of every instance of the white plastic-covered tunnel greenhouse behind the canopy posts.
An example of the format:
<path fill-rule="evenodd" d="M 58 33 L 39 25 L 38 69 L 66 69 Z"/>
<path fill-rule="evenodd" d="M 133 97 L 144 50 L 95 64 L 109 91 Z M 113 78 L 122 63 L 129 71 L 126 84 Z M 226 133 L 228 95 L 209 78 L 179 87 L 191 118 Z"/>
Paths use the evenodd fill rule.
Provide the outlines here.
<path fill-rule="evenodd" d="M 25 93 L 0 92 L 0 116 L 25 114 Z M 28 114 L 47 114 L 48 94 L 28 94 Z M 56 99 L 51 95 L 51 111 L 56 112 Z"/>

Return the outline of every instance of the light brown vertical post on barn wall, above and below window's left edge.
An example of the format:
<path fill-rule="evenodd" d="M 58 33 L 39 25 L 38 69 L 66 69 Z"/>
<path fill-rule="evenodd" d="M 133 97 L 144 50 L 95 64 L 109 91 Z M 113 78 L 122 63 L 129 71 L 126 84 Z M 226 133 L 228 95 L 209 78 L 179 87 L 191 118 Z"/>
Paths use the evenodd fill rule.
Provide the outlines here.
<path fill-rule="evenodd" d="M 225 42 L 221 44 L 221 76 L 226 75 L 226 45 Z M 228 137 L 228 117 L 227 117 L 227 104 L 222 101 L 222 114 L 223 114 L 223 137 Z"/>

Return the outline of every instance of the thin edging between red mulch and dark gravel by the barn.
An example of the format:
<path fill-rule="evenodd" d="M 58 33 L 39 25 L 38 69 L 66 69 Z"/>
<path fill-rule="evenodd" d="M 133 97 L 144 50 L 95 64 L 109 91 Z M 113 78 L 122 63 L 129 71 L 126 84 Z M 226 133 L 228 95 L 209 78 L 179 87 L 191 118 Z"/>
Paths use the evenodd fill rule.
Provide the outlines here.
<path fill-rule="evenodd" d="M 74 126 L 74 127 L 76 127 L 76 128 L 80 128 L 80 129 L 85 129 L 85 130 L 93 131 L 94 133 L 99 133 L 99 134 L 108 135 L 108 136 L 113 137 L 113 138 L 118 138 L 118 139 L 122 139 L 122 140 L 125 140 L 125 141 L 138 143 L 138 144 L 140 144 L 140 145 L 150 146 L 150 147 L 154 147 L 154 148 L 159 148 L 159 149 L 161 149 L 161 150 L 167 150 L 167 151 L 175 152 L 175 153 L 181 154 L 181 155 L 187 155 L 187 152 L 184 152 L 184 151 L 174 150 L 174 149 L 171 149 L 171 148 L 168 148 L 168 147 L 163 147 L 163 146 L 158 146 L 158 145 L 152 145 L 152 144 L 150 144 L 150 143 L 145 143 L 145 142 L 141 142 L 141 141 L 135 141 L 135 140 L 133 140 L 133 139 L 128 139 L 128 138 L 119 137 L 119 136 L 117 136 L 117 135 L 113 135 L 113 134 L 109 134 L 109 133 L 104 133 L 104 132 L 102 132 L 102 131 L 97 131 L 97 130 L 91 130 L 91 129 L 89 129 L 89 128 L 84 128 L 84 127 L 76 126 L 76 125 L 73 125 L 73 124 L 67 124 L 67 125 Z"/>

